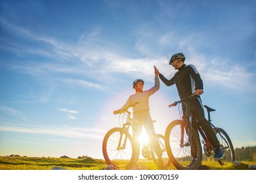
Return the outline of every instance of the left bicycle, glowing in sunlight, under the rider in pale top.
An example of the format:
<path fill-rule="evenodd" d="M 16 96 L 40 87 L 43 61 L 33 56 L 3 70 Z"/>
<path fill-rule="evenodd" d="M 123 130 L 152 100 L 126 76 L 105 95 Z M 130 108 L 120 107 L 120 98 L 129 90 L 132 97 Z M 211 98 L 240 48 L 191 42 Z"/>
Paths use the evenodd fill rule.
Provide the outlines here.
<path fill-rule="evenodd" d="M 137 105 L 137 103 L 134 103 L 130 107 L 134 107 L 135 105 Z M 127 109 L 119 112 L 119 114 L 123 114 L 122 119 L 126 118 L 126 122 L 123 122 L 125 120 L 120 120 L 122 127 L 114 127 L 106 133 L 102 143 L 102 152 L 108 165 L 114 165 L 117 169 L 131 169 L 135 163 L 135 142 L 130 133 L 130 126 L 133 131 L 136 131 L 134 123 L 142 123 L 133 119 L 131 112 Z M 160 134 L 156 134 L 156 137 L 158 142 L 160 142 L 163 152 L 163 165 L 164 167 L 169 167 L 171 160 L 165 149 L 165 138 Z M 152 158 L 154 163 L 158 165 L 158 158 L 154 152 L 154 148 L 151 146 L 150 140 L 148 144 L 143 146 L 142 156 L 148 159 Z"/>

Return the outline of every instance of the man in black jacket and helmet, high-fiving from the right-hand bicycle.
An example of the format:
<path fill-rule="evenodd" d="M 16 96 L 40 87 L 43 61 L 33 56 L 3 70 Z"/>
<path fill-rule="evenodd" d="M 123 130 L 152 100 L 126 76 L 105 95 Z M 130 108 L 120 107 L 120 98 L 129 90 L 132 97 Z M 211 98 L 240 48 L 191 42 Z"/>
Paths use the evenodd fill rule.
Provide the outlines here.
<path fill-rule="evenodd" d="M 169 61 L 169 65 L 172 65 L 175 68 L 175 70 L 178 70 L 178 71 L 170 80 L 167 80 L 167 78 L 161 75 L 160 71 L 156 69 L 156 73 L 159 75 L 160 79 L 164 84 L 166 84 L 167 86 L 171 86 L 175 84 L 177 86 L 179 97 L 181 99 L 184 99 L 192 94 L 201 95 L 203 93 L 203 81 L 200 77 L 200 74 L 196 70 L 196 67 L 194 67 L 194 65 L 185 65 L 184 61 L 185 61 L 185 56 L 182 53 L 174 54 L 171 57 Z M 203 105 L 202 105 L 200 96 L 196 99 L 191 99 L 189 103 L 190 103 L 190 112 L 192 112 L 196 120 L 198 120 L 198 123 L 200 124 L 203 131 L 205 132 L 207 139 L 209 140 L 211 145 L 215 148 L 214 159 L 216 160 L 223 159 L 224 153 L 220 147 L 219 141 L 213 131 L 213 128 L 211 127 L 209 122 L 205 119 Z M 193 156 L 193 152 L 192 152 L 192 156 Z"/>

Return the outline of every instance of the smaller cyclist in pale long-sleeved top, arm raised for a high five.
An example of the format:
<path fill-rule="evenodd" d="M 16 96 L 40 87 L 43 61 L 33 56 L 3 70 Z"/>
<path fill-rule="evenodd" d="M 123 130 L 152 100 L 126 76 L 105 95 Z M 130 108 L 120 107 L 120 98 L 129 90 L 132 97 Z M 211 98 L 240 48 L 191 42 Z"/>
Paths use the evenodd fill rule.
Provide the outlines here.
<path fill-rule="evenodd" d="M 127 99 L 123 107 L 119 108 L 118 110 L 114 110 L 114 114 L 118 114 L 123 110 L 129 108 L 132 104 L 139 102 L 137 105 L 133 107 L 133 118 L 139 122 L 142 122 L 142 124 L 134 123 L 135 131 L 133 131 L 133 139 L 135 140 L 135 146 L 136 146 L 135 163 L 137 163 L 137 161 L 139 160 L 140 142 L 138 137 L 142 131 L 142 125 L 144 125 L 144 128 L 146 129 L 146 132 L 148 133 L 148 137 L 150 138 L 152 142 L 152 146 L 156 152 L 156 156 L 158 156 L 158 169 L 163 169 L 163 159 L 161 158 L 161 155 L 162 155 L 161 146 L 155 134 L 155 129 L 154 129 L 152 118 L 150 116 L 150 112 L 149 112 L 150 107 L 148 103 L 149 97 L 154 93 L 156 93 L 156 91 L 158 91 L 160 88 L 160 81 L 159 81 L 158 75 L 156 74 L 156 67 L 154 68 L 155 68 L 155 85 L 149 90 L 144 91 L 143 90 L 144 80 L 141 80 L 141 79 L 135 80 L 133 82 L 133 89 L 135 90 L 135 94 L 130 95 L 130 97 Z"/>

